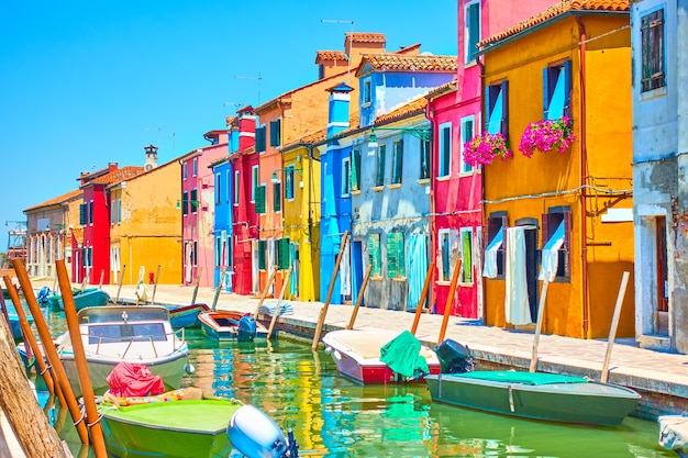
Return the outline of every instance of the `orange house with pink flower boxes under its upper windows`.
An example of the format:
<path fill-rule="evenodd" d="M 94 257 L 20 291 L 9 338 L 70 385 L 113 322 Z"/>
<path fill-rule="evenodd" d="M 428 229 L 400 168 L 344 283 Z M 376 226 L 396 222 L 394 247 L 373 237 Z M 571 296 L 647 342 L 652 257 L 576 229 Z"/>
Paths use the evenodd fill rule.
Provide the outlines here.
<path fill-rule="evenodd" d="M 482 119 L 502 126 L 482 168 L 489 325 L 533 323 L 546 279 L 545 333 L 609 335 L 633 272 L 628 25 L 629 2 L 565 1 L 479 43 Z M 634 335 L 632 284 L 620 337 Z"/>

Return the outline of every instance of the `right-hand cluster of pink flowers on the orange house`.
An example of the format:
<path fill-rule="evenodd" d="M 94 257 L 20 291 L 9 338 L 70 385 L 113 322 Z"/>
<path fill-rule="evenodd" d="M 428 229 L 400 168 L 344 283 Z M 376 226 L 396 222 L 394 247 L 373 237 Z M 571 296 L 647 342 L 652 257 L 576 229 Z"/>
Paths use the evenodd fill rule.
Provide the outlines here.
<path fill-rule="evenodd" d="M 523 131 L 519 149 L 525 157 L 532 157 L 535 149 L 564 154 L 576 139 L 572 127 L 573 121 L 567 116 L 530 123 Z"/>

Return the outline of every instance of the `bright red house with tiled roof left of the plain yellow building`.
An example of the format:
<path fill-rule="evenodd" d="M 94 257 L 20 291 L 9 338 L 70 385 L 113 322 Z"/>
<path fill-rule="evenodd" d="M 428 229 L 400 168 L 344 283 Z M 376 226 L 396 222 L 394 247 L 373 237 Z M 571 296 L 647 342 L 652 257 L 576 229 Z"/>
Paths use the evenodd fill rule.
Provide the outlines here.
<path fill-rule="evenodd" d="M 110 230 L 115 221 L 111 211 L 116 216 L 120 210 L 112 206 L 116 205 L 116 200 L 112 202 L 108 188 L 144 171 L 144 167 L 118 168 L 116 163 L 111 163 L 106 169 L 79 177 L 82 203 L 79 205 L 79 227 L 71 232 L 71 281 L 80 283 L 86 279 L 90 284 L 109 284 L 116 278 L 110 276 Z"/>

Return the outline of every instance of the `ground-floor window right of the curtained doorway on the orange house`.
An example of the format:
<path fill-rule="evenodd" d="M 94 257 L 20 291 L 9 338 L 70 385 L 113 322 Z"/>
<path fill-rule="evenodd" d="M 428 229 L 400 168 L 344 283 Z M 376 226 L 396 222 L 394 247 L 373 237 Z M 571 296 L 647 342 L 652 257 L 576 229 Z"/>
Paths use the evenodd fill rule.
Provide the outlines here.
<path fill-rule="evenodd" d="M 540 275 L 570 278 L 570 211 L 568 206 L 554 206 L 542 215 L 542 247 Z M 551 277 L 551 278 L 552 278 Z"/>

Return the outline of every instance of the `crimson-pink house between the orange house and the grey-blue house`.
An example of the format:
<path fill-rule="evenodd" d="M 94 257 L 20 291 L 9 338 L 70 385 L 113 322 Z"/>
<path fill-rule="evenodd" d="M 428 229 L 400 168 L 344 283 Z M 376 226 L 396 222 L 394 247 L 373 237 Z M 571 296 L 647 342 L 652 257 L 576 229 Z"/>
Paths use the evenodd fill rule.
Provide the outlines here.
<path fill-rule="evenodd" d="M 542 11 L 553 0 L 528 2 L 457 2 L 458 66 L 456 80 L 428 97 L 428 115 L 433 125 L 431 174 L 431 258 L 435 260 L 431 304 L 444 313 L 457 260 L 462 270 L 452 298 L 452 315 L 482 319 L 482 177 L 479 165 L 464 160 L 464 144 L 481 133 L 482 81 L 477 43 Z M 487 127 L 502 125 L 492 110 Z"/>

